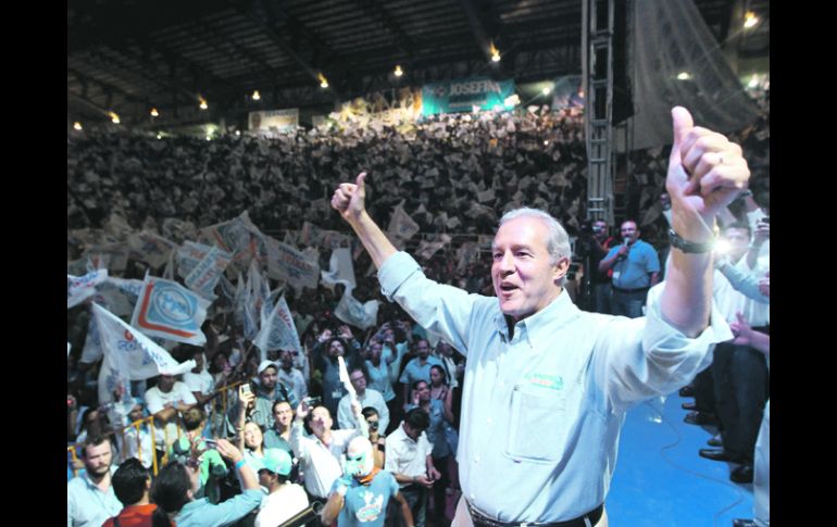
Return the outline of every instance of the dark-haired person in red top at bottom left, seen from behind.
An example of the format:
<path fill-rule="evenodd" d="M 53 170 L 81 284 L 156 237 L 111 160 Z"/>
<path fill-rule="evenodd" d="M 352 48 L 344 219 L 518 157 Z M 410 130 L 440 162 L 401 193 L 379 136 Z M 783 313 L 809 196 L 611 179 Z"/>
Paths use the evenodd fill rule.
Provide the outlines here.
<path fill-rule="evenodd" d="M 151 515 L 157 505 L 151 503 L 151 475 L 139 460 L 124 461 L 113 473 L 113 491 L 125 507 L 102 527 L 152 527 Z M 117 523 L 118 522 L 118 523 Z"/>

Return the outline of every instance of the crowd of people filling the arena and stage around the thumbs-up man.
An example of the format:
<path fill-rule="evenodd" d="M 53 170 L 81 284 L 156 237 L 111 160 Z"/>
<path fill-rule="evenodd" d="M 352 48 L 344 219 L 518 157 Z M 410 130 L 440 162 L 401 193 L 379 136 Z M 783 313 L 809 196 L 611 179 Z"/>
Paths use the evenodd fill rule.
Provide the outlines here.
<path fill-rule="evenodd" d="M 744 147 L 754 191 L 730 200 L 717 216 L 732 249 L 715 259 L 714 302 L 735 340 L 720 343 L 712 366 L 690 385 L 696 414 L 687 419 L 721 430 L 711 443 L 720 452 L 701 455 L 741 463 L 734 481 L 752 480 L 754 472 L 759 484 L 762 474 L 762 488 L 755 442 L 769 376 L 764 355 L 753 351 L 764 348 L 753 331 L 769 335 L 769 310 L 757 305 L 769 299 L 769 130 L 765 114 L 730 137 Z M 368 171 L 365 210 L 384 224 L 402 204 L 423 233 L 490 235 L 503 213 L 523 205 L 542 209 L 589 254 L 584 273 L 591 287 L 582 299 L 588 311 L 637 318 L 646 315 L 650 289 L 665 279 L 674 250 L 665 235 L 672 221 L 664 192 L 667 160 L 663 149 L 637 153 L 632 177 L 641 216 L 617 226 L 597 222 L 588 231 L 583 121 L 570 111 L 445 115 L 407 127 L 323 126 L 271 140 L 74 134 L 67 139 L 67 219 L 71 230 L 102 229 L 110 241 L 146 229 L 179 243 L 192 239 L 196 226 L 243 210 L 265 233 L 296 231 L 303 222 L 345 231 L 332 192 L 341 181 L 354 181 L 362 167 Z M 360 240 L 368 251 L 363 236 Z M 273 350 L 261 360 L 229 310 L 213 308 L 202 328 L 207 344 L 171 350 L 178 361 L 196 360 L 195 368 L 136 382 L 128 414 L 118 411 L 125 406 L 99 403 L 101 363 L 80 361 L 89 302 L 68 310 L 67 443 L 76 444 L 82 457 L 67 470 L 68 526 L 98 526 L 117 514 L 122 525 L 279 525 L 314 502 L 325 505 L 323 522 L 341 526 L 362 515 L 388 524 L 402 516 L 415 527 L 450 524 L 450 509 L 463 490 L 457 452 L 467 367 L 451 344 L 467 346 L 450 335 L 453 329 L 415 323 L 412 310 L 421 308 L 410 306 L 410 299 L 399 300 L 407 302 L 403 308 L 387 302 L 392 292 L 380 290 L 386 285 L 374 273 L 384 262 L 361 252 L 358 240 L 349 243 L 358 269 L 355 297 L 383 302 L 375 326 L 362 330 L 335 316 L 341 286 L 288 289 L 304 351 Z M 68 261 L 84 258 L 86 249 L 68 234 Z M 491 259 L 479 252 L 461 259 L 460 249 L 442 246 L 422 259 L 423 276 L 496 294 Z M 482 249 L 483 255 L 491 250 L 487 242 Z M 321 253 L 322 268 L 328 267 L 327 258 Z M 141 278 L 162 267 L 129 259 L 122 275 Z M 730 268 L 755 280 L 750 293 L 736 292 L 747 280 L 728 277 Z M 235 277 L 230 281 L 236 285 Z M 753 298 L 753 287 L 761 298 L 737 297 Z M 228 397 L 213 397 L 237 381 L 242 385 Z M 742 393 L 749 399 L 739 409 Z M 152 426 L 127 426 L 149 414 Z M 762 424 L 762 436 L 763 429 Z M 154 459 L 160 469 L 152 477 Z M 469 513 L 475 523 L 483 514 Z"/>

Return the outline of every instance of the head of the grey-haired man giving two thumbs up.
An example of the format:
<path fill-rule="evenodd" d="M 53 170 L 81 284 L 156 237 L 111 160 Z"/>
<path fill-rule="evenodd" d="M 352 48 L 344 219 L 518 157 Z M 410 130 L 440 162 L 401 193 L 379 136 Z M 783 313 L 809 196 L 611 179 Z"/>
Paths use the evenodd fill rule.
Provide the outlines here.
<path fill-rule="evenodd" d="M 558 280 L 570 267 L 570 259 L 550 263 L 549 229 L 536 217 L 521 216 L 497 230 L 491 244 L 491 280 L 500 311 L 521 321 L 549 305 L 561 293 Z"/>

